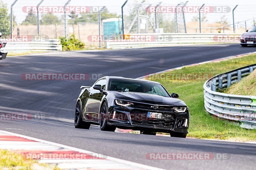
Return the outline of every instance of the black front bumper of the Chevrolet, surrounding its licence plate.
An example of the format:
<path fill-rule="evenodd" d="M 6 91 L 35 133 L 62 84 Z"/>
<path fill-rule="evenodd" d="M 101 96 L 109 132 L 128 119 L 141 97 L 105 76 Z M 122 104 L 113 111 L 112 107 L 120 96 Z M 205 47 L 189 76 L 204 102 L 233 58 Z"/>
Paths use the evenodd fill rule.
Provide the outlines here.
<path fill-rule="evenodd" d="M 121 129 L 151 130 L 170 133 L 172 131 L 188 133 L 189 111 L 174 113 L 172 111 L 144 110 L 130 107 L 111 106 L 108 124 Z M 162 113 L 161 118 L 148 118 L 148 112 Z"/>

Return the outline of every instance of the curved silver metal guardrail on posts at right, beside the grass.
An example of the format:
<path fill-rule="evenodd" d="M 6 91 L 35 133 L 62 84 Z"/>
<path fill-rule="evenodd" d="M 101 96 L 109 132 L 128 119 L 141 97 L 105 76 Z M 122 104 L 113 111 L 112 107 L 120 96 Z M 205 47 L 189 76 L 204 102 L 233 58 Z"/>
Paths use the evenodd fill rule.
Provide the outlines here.
<path fill-rule="evenodd" d="M 252 73 L 256 64 L 218 74 L 204 83 L 204 107 L 217 117 L 234 120 L 246 129 L 256 129 L 256 96 L 231 95 L 216 92 L 230 87 Z"/>

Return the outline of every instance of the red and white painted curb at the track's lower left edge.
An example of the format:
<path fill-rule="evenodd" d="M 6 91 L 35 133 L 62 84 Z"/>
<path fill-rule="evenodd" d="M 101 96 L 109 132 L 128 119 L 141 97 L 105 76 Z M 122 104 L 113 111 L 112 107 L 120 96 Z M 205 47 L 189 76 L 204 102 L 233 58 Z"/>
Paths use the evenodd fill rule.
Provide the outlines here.
<path fill-rule="evenodd" d="M 20 153 L 26 159 L 36 159 L 60 169 L 159 169 L 123 159 L 32 138 L 8 131 L 0 131 L 0 149 Z M 146 159 L 146 158 L 145 158 Z"/>

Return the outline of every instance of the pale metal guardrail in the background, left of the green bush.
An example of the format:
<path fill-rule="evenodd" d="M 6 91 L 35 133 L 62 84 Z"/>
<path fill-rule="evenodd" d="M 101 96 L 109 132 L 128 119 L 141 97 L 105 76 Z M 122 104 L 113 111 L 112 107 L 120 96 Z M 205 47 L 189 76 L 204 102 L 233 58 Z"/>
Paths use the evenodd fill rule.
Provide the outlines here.
<path fill-rule="evenodd" d="M 62 46 L 59 39 L 49 39 L 45 41 L 7 42 L 3 49 L 12 53 L 47 52 L 61 51 Z"/>

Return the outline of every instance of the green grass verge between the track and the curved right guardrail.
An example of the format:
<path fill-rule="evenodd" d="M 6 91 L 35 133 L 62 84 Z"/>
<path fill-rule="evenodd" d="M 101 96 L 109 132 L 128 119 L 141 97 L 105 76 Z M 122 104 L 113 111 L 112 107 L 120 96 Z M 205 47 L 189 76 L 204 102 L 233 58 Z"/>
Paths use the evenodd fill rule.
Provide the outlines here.
<path fill-rule="evenodd" d="M 190 124 L 188 137 L 205 139 L 226 139 L 233 141 L 256 141 L 256 130 L 240 128 L 235 122 L 221 120 L 213 117 L 204 109 L 203 84 L 207 78 L 224 73 L 239 67 L 256 63 L 256 55 L 248 55 L 240 58 L 206 63 L 197 66 L 184 67 L 165 73 L 170 75 L 168 80 L 159 80 L 156 76 L 149 80 L 158 81 L 171 93 L 178 93 L 190 109 Z M 205 79 L 183 80 L 182 76 L 189 74 L 203 74 Z M 174 75 L 174 78 L 172 78 Z M 180 75 L 181 78 L 178 77 Z M 209 77 L 207 77 L 209 75 Z M 176 77 L 176 79 L 175 79 Z M 174 80 L 175 79 L 175 80 Z M 179 80 L 177 80 L 179 79 Z"/>

